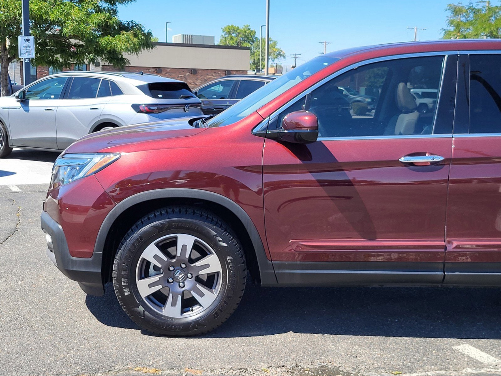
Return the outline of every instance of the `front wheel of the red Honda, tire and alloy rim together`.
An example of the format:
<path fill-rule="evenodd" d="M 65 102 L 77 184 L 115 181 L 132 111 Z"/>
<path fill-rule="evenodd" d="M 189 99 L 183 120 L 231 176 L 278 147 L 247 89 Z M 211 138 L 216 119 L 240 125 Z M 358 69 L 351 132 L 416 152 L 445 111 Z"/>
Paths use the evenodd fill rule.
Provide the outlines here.
<path fill-rule="evenodd" d="M 224 322 L 245 287 L 243 251 L 213 214 L 169 207 L 143 217 L 122 241 L 113 284 L 129 317 L 152 333 L 201 334 Z"/>

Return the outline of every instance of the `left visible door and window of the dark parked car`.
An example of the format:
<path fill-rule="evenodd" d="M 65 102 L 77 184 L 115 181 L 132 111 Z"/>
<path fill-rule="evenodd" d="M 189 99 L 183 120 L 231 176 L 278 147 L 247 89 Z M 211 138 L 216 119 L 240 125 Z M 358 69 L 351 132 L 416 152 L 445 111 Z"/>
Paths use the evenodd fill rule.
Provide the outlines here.
<path fill-rule="evenodd" d="M 237 80 L 220 80 L 198 89 L 196 96 L 202 101 L 203 113 L 218 114 L 228 108 L 233 88 L 237 83 Z"/>

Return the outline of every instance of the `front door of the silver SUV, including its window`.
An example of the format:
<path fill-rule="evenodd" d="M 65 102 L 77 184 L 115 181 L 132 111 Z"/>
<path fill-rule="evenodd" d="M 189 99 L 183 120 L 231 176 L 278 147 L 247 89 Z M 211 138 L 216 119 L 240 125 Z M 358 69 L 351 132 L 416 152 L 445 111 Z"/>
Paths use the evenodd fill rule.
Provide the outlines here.
<path fill-rule="evenodd" d="M 26 89 L 26 100 L 9 109 L 15 146 L 57 149 L 56 113 L 68 77 L 52 77 Z"/>

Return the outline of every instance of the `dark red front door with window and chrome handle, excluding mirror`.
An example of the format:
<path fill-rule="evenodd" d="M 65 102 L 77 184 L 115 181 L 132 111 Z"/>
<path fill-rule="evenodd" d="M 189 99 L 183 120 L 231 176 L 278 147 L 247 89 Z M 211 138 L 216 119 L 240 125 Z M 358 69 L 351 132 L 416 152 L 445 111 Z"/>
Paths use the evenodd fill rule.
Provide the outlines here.
<path fill-rule="evenodd" d="M 279 282 L 442 281 L 456 60 L 357 67 L 272 115 L 269 128 L 301 109 L 319 121 L 312 144 L 265 141 L 266 233 Z M 350 104 L 340 87 L 374 99 Z M 441 91 L 438 107 L 420 113 L 413 88 Z"/>

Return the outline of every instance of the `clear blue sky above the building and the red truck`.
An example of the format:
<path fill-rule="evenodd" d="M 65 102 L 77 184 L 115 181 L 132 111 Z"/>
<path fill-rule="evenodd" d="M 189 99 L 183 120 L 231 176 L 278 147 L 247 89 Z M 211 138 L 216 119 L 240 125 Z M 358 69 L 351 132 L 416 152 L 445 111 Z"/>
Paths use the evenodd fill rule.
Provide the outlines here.
<path fill-rule="evenodd" d="M 286 52 L 301 54 L 298 65 L 323 51 L 320 41 L 332 42 L 327 51 L 348 47 L 410 41 L 413 30 L 418 40 L 439 39 L 453 0 L 271 0 L 270 36 Z M 228 24 L 249 24 L 257 31 L 266 23 L 265 0 L 137 0 L 121 6 L 119 17 L 134 20 L 165 42 L 165 22 L 169 42 L 174 34 L 213 35 Z M 265 33 L 265 28 L 263 28 Z"/>

